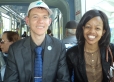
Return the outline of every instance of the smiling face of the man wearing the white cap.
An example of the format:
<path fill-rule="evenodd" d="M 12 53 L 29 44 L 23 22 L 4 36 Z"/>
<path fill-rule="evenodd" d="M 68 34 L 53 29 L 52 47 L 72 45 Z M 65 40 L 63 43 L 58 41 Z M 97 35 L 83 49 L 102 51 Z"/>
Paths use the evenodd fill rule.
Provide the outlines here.
<path fill-rule="evenodd" d="M 26 18 L 26 23 L 30 27 L 31 35 L 44 35 L 51 23 L 49 13 L 44 8 L 33 8 Z"/>

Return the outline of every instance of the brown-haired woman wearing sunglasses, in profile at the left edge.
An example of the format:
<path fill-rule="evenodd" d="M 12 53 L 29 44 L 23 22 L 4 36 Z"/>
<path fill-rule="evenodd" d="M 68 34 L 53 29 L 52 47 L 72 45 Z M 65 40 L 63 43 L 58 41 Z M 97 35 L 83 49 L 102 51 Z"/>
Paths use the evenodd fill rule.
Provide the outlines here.
<path fill-rule="evenodd" d="M 5 53 L 3 54 L 3 59 L 5 60 L 5 62 L 7 59 L 9 46 L 18 40 L 20 40 L 20 36 L 16 32 L 5 31 L 3 33 L 0 47 L 1 47 L 2 52 Z M 2 65 L 1 67 L 1 80 L 2 81 L 4 77 L 5 67 L 6 67 L 6 64 Z"/>

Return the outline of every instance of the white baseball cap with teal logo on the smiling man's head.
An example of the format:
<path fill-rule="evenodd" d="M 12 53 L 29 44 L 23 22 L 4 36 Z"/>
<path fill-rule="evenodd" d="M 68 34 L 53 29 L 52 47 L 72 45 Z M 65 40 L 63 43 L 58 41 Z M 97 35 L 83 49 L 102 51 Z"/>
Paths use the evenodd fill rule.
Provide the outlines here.
<path fill-rule="evenodd" d="M 49 12 L 50 15 L 52 14 L 51 9 L 48 7 L 46 3 L 44 3 L 43 1 L 35 1 L 35 2 L 30 3 L 28 7 L 28 11 L 27 11 L 27 16 L 28 16 L 29 11 L 35 7 L 43 7 Z"/>

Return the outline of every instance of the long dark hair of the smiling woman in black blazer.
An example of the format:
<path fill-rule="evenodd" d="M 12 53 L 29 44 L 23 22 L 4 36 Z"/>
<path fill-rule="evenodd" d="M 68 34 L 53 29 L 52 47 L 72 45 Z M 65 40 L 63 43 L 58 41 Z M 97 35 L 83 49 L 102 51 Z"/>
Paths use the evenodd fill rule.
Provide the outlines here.
<path fill-rule="evenodd" d="M 104 46 L 108 46 L 110 43 L 110 37 L 111 37 L 111 33 L 110 33 L 110 27 L 109 27 L 109 22 L 108 22 L 108 18 L 106 16 L 105 13 L 103 13 L 100 10 L 89 10 L 87 11 L 83 17 L 81 18 L 78 26 L 77 26 L 77 30 L 76 30 L 76 38 L 77 38 L 77 43 L 80 44 L 84 44 L 85 43 L 85 38 L 84 38 L 84 34 L 83 34 L 83 26 L 85 26 L 85 24 L 92 19 L 93 17 L 99 16 L 101 17 L 102 21 L 103 21 L 103 30 L 105 30 L 105 34 L 101 37 L 100 41 L 99 41 L 99 47 L 104 47 Z"/>

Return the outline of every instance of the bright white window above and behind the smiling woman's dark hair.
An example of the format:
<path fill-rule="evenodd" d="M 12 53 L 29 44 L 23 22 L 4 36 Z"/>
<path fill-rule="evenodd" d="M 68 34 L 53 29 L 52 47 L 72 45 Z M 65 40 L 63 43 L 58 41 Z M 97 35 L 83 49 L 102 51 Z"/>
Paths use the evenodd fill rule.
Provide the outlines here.
<path fill-rule="evenodd" d="M 93 0 L 86 0 L 87 3 L 93 3 Z M 95 3 L 87 4 L 87 10 L 99 9 L 109 18 L 110 24 L 114 24 L 114 0 L 94 0 Z"/>

